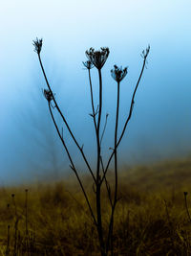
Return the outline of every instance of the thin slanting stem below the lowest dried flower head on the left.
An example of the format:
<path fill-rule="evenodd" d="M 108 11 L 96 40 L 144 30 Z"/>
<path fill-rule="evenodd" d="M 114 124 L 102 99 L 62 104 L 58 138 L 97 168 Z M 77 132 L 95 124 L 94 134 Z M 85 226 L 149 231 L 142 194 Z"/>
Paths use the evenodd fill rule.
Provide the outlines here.
<path fill-rule="evenodd" d="M 85 190 L 84 190 L 84 186 L 83 186 L 83 184 L 82 184 L 82 182 L 81 182 L 81 179 L 80 179 L 79 175 L 77 174 L 77 171 L 76 171 L 76 169 L 75 169 L 74 162 L 73 162 L 73 159 L 72 159 L 72 157 L 71 157 L 71 154 L 70 154 L 70 152 L 68 151 L 68 148 L 67 148 L 67 146 L 66 146 L 66 144 L 65 144 L 65 141 L 64 141 L 64 139 L 62 138 L 62 135 L 61 135 L 61 133 L 60 133 L 60 131 L 59 131 L 59 129 L 58 129 L 56 123 L 55 123 L 55 119 L 54 119 L 54 117 L 53 117 L 53 111 L 52 111 L 52 108 L 51 108 L 51 104 L 50 104 L 50 103 L 49 103 L 49 110 L 50 110 L 50 113 L 51 113 L 51 116 L 52 116 L 52 119 L 53 119 L 54 127 L 56 128 L 56 131 L 57 131 L 58 136 L 59 136 L 59 138 L 60 138 L 60 140 L 61 140 L 61 142 L 62 142 L 62 144 L 63 144 L 63 146 L 64 146 L 65 151 L 67 152 L 67 155 L 68 155 L 69 160 L 70 160 L 70 162 L 71 162 L 71 168 L 72 168 L 72 170 L 74 171 L 74 175 L 76 176 L 77 181 L 79 182 L 79 185 L 80 185 L 80 187 L 81 187 L 81 190 L 82 190 L 82 192 L 83 192 L 83 195 L 84 195 L 84 197 L 85 197 L 85 199 L 86 199 L 86 202 L 87 202 L 87 204 L 88 204 L 88 207 L 89 207 L 91 216 L 92 216 L 92 218 L 93 218 L 93 220 L 94 220 L 94 222 L 95 222 L 95 224 L 96 224 L 96 226 L 97 226 L 96 218 L 95 218 L 95 215 L 94 215 L 94 213 L 93 213 L 93 210 L 92 210 L 92 207 L 91 207 L 89 198 L 88 198 L 88 196 L 87 196 L 87 194 L 86 194 L 86 192 L 85 192 Z"/>

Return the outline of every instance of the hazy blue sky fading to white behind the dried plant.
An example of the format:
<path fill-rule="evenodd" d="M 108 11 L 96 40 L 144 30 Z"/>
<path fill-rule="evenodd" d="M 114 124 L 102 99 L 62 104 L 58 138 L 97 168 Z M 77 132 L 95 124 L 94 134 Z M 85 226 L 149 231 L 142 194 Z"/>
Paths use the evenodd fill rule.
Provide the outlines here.
<path fill-rule="evenodd" d="M 110 48 L 102 70 L 104 113 L 110 113 L 105 138 L 108 149 L 114 142 L 117 97 L 110 70 L 114 64 L 129 67 L 121 83 L 123 124 L 141 69 L 140 54 L 148 44 L 147 69 L 120 147 L 121 162 L 190 154 L 190 11 L 190 0 L 1 0 L 0 183 L 38 177 L 48 168 L 64 170 L 69 164 L 42 96 L 46 84 L 33 52 L 36 36 L 44 40 L 42 59 L 56 98 L 90 158 L 94 158 L 90 149 L 95 142 L 88 116 L 88 74 L 81 63 L 86 60 L 85 50 Z M 96 70 L 93 79 L 96 92 Z M 67 141 L 75 155 L 70 139 Z"/>

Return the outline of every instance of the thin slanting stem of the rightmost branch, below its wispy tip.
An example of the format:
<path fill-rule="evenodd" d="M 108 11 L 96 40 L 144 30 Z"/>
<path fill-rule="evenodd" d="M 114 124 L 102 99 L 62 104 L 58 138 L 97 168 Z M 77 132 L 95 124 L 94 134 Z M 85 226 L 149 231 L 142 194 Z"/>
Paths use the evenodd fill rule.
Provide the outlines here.
<path fill-rule="evenodd" d="M 142 77 L 142 74 L 143 74 L 143 71 L 144 71 L 144 68 L 145 68 L 146 58 L 147 58 L 147 56 L 144 57 L 144 60 L 143 60 L 142 68 L 141 68 L 141 71 L 140 71 L 140 75 L 139 75 L 139 77 L 138 77 L 138 82 L 137 82 L 136 88 L 135 88 L 134 93 L 133 93 L 133 96 L 132 96 L 132 101 L 131 101 L 131 105 L 130 105 L 129 115 L 128 115 L 127 120 L 126 120 L 126 122 L 125 122 L 124 128 L 122 129 L 121 135 L 120 135 L 120 137 L 119 137 L 119 139 L 118 139 L 118 141 L 117 141 L 117 147 L 118 147 L 118 145 L 119 145 L 119 143 L 120 143 L 120 141 L 121 141 L 121 139 L 122 139 L 122 137 L 123 137 L 123 135 L 124 135 L 125 129 L 127 128 L 127 125 L 128 125 L 128 123 L 129 123 L 129 121 L 130 121 L 130 119 L 131 119 L 131 116 L 132 116 L 133 106 L 134 106 L 134 104 L 135 104 L 135 96 L 136 96 L 136 92 L 137 92 L 137 90 L 138 90 L 139 81 L 141 80 L 141 77 Z M 106 168 L 105 168 L 105 173 L 104 173 L 104 175 L 102 176 L 102 179 L 101 179 L 101 183 L 103 182 L 104 176 L 107 174 L 107 171 L 108 171 L 108 168 L 109 168 L 109 166 L 110 166 L 110 162 L 111 162 L 111 160 L 112 160 L 112 158 L 113 158 L 113 156 L 114 156 L 114 153 L 115 153 L 115 151 L 112 151 L 112 153 L 111 153 L 111 155 L 110 155 L 110 157 L 109 157 L 107 166 L 106 166 Z"/>

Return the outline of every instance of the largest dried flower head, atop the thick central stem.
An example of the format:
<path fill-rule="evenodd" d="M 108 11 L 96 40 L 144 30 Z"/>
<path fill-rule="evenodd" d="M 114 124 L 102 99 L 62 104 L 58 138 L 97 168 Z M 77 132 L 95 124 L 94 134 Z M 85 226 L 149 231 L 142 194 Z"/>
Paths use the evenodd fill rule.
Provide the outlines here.
<path fill-rule="evenodd" d="M 101 47 L 99 51 L 95 51 L 95 49 L 91 47 L 89 51 L 86 51 L 86 56 L 97 69 L 101 69 L 105 64 L 109 53 L 110 50 L 108 47 Z"/>

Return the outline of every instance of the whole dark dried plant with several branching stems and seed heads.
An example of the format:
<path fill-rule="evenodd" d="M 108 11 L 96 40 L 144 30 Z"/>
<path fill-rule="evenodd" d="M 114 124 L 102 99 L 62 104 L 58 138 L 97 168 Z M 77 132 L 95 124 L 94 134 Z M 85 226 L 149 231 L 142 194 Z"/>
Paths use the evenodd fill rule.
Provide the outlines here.
<path fill-rule="evenodd" d="M 141 54 L 141 57 L 143 58 L 142 68 L 141 68 L 141 71 L 140 71 L 140 74 L 138 77 L 138 82 L 134 89 L 134 93 L 132 95 L 130 109 L 129 109 L 128 115 L 126 117 L 125 124 L 124 124 L 120 134 L 118 134 L 120 82 L 126 77 L 128 69 L 127 69 L 127 67 L 119 68 L 119 67 L 117 67 L 117 65 L 114 65 L 114 69 L 111 70 L 111 75 L 112 75 L 113 79 L 115 81 L 117 81 L 117 111 L 116 111 L 116 126 L 115 126 L 115 134 L 114 134 L 115 142 L 114 142 L 114 147 L 112 148 L 112 152 L 110 154 L 110 157 L 107 161 L 106 166 L 104 166 L 103 160 L 102 160 L 101 143 L 102 143 L 103 135 L 104 135 L 105 128 L 107 125 L 108 114 L 106 115 L 105 125 L 103 128 L 103 131 L 101 132 L 101 130 L 100 130 L 101 114 L 102 114 L 102 73 L 101 73 L 101 70 L 102 70 L 102 67 L 104 66 L 107 58 L 109 57 L 110 51 L 109 51 L 109 48 L 102 47 L 102 48 L 100 48 L 100 50 L 97 50 L 97 51 L 94 48 L 90 48 L 89 50 L 87 50 L 85 52 L 88 60 L 84 61 L 83 64 L 84 64 L 85 68 L 88 70 L 88 74 L 89 74 L 91 103 L 92 103 L 92 111 L 93 111 L 90 114 L 90 116 L 93 118 L 95 132 L 96 132 L 96 173 L 95 173 L 89 164 L 89 161 L 88 161 L 88 159 L 85 155 L 85 152 L 83 150 L 83 146 L 80 146 L 78 144 L 78 142 L 74 136 L 74 132 L 70 128 L 65 115 L 60 110 L 60 107 L 58 106 L 56 99 L 54 97 L 52 87 L 47 79 L 47 76 L 46 76 L 46 73 L 45 73 L 45 70 L 44 70 L 44 67 L 42 64 L 42 60 L 41 60 L 40 54 L 41 54 L 41 49 L 42 49 L 42 39 L 36 38 L 36 40 L 33 41 L 33 45 L 34 45 L 34 51 L 37 53 L 37 56 L 38 56 L 38 59 L 40 62 L 40 66 L 41 66 L 45 81 L 48 86 L 48 89 L 44 89 L 44 96 L 48 102 L 49 110 L 50 110 L 50 113 L 51 113 L 51 116 L 53 119 L 53 125 L 54 125 L 54 127 L 58 133 L 58 136 L 62 142 L 62 145 L 69 157 L 70 167 L 73 170 L 74 175 L 76 176 L 77 181 L 81 187 L 82 193 L 84 195 L 84 198 L 86 199 L 87 206 L 89 208 L 89 211 L 90 211 L 90 214 L 92 217 L 92 221 L 94 222 L 94 224 L 96 226 L 96 231 L 97 231 L 97 236 L 98 236 L 98 241 L 99 241 L 99 246 L 100 246 L 100 254 L 101 254 L 101 256 L 107 256 L 109 254 L 109 252 L 111 252 L 111 255 L 114 255 L 114 235 L 113 235 L 114 221 L 115 221 L 114 214 L 115 214 L 117 201 L 119 199 L 117 196 L 117 191 L 118 191 L 117 148 L 123 138 L 123 135 L 125 133 L 127 125 L 132 116 L 133 107 L 135 105 L 135 96 L 136 96 L 136 93 L 138 90 L 138 84 L 139 84 L 139 81 L 141 80 L 141 77 L 142 77 L 142 74 L 143 74 L 143 71 L 144 71 L 144 68 L 146 65 L 147 57 L 148 57 L 148 54 L 150 51 L 150 46 L 148 46 L 148 48 L 145 51 L 142 51 L 142 54 Z M 91 69 L 93 67 L 96 67 L 97 72 L 98 72 L 98 78 L 99 78 L 99 99 L 98 99 L 97 108 L 95 108 L 94 93 L 93 93 L 93 86 L 92 86 L 92 79 L 91 79 Z M 53 105 L 52 105 L 52 102 L 53 102 Z M 66 145 L 66 142 L 62 135 L 62 132 L 59 130 L 59 128 L 56 124 L 56 121 L 55 121 L 54 115 L 53 115 L 53 110 L 58 111 L 60 117 L 63 120 L 64 125 L 66 126 L 72 139 L 74 140 L 74 144 L 76 145 L 77 149 L 81 153 L 83 160 L 90 172 L 90 175 L 92 176 L 92 179 L 94 182 L 93 189 L 96 194 L 96 212 L 93 210 L 93 205 L 91 204 L 88 194 L 86 192 L 86 189 L 83 185 L 83 182 L 82 182 L 80 176 L 78 175 L 78 171 L 75 167 L 74 160 L 73 160 L 71 153 Z M 108 169 L 109 169 L 109 166 L 110 166 L 110 163 L 111 163 L 111 160 L 113 159 L 113 157 L 114 157 L 114 161 L 115 161 L 115 167 L 114 167 L 115 187 L 113 188 L 114 191 L 112 190 L 111 185 L 107 179 Z M 110 220 L 109 220 L 109 225 L 108 225 L 107 230 L 103 230 L 103 222 L 102 222 L 102 204 L 101 204 L 101 202 L 102 202 L 101 201 L 101 192 L 102 191 L 101 191 L 101 188 L 104 183 L 105 183 L 105 186 L 107 189 L 107 194 L 108 194 L 108 198 L 109 198 L 110 206 L 111 206 Z M 105 236 L 105 234 L 107 234 L 107 235 Z"/>

